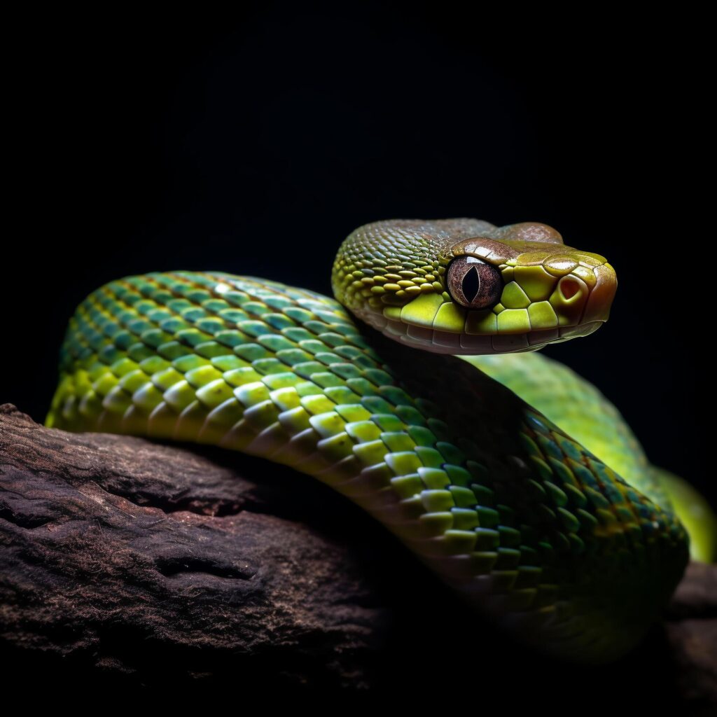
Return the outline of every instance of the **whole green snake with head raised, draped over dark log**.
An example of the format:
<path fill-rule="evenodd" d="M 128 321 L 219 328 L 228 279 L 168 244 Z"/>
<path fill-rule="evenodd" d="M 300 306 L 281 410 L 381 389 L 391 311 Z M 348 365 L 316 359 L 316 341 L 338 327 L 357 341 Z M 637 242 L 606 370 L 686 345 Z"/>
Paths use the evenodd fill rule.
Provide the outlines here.
<path fill-rule="evenodd" d="M 220 272 L 110 282 L 70 320 L 47 425 L 290 465 L 521 641 L 589 663 L 630 650 L 687 533 L 615 409 L 529 353 L 607 320 L 604 257 L 543 224 L 375 222 L 332 284 L 336 300 Z"/>

